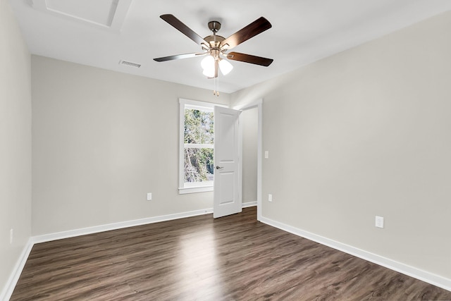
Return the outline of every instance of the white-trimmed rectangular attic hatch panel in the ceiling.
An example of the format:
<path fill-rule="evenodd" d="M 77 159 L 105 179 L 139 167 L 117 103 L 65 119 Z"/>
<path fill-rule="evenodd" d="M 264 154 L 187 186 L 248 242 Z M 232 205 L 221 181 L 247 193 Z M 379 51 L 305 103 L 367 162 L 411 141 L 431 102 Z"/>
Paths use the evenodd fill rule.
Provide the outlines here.
<path fill-rule="evenodd" d="M 84 23 L 121 30 L 132 0 L 32 0 L 39 11 Z"/>

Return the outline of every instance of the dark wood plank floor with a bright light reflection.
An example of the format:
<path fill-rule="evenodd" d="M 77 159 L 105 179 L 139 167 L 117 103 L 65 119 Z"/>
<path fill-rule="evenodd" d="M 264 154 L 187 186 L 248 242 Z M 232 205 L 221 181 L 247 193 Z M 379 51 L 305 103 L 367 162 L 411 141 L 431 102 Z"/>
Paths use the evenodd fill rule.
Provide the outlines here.
<path fill-rule="evenodd" d="M 451 300 L 451 292 L 259 223 L 253 207 L 37 244 L 11 300 Z"/>

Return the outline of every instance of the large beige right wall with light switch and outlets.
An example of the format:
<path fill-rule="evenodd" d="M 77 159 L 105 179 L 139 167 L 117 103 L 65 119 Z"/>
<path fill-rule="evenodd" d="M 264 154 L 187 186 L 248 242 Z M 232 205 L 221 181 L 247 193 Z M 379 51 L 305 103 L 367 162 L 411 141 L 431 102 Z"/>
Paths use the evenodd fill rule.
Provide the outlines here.
<path fill-rule="evenodd" d="M 451 279 L 450 32 L 445 13 L 233 94 L 264 99 L 263 216 Z"/>

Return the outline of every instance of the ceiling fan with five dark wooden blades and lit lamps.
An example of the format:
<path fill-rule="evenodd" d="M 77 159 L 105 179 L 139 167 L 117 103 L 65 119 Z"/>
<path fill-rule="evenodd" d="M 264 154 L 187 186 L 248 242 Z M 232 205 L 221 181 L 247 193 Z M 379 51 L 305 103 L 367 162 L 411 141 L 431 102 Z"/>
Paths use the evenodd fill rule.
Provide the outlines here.
<path fill-rule="evenodd" d="M 264 17 L 258 18 L 254 22 L 243 27 L 241 30 L 235 32 L 227 39 L 221 37 L 220 35 L 216 35 L 218 30 L 221 29 L 221 23 L 218 21 L 210 21 L 208 23 L 208 27 L 213 32 L 213 35 L 202 38 L 197 35 L 196 32 L 191 30 L 190 27 L 187 27 L 187 25 L 183 24 L 180 20 L 178 20 L 178 18 L 175 18 L 175 16 L 171 14 L 161 15 L 160 18 L 175 27 L 175 29 L 182 32 L 183 35 L 186 35 L 199 44 L 203 51 L 200 53 L 164 56 L 154 59 L 155 61 L 172 61 L 176 59 L 188 59 L 196 56 L 206 56 L 202 60 L 202 67 L 204 68 L 204 75 L 206 75 L 207 78 L 217 78 L 218 69 L 220 69 L 221 73 L 224 75 L 230 72 L 233 66 L 227 61 L 227 59 L 242 61 L 245 63 L 254 63 L 256 65 L 266 67 L 271 65 L 273 62 L 273 59 L 266 59 L 261 56 L 252 56 L 250 54 L 241 54 L 239 52 L 227 52 L 242 42 L 247 41 L 251 37 L 259 35 L 261 32 L 271 28 L 271 23 L 269 23 L 269 21 Z"/>

